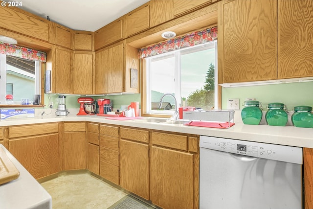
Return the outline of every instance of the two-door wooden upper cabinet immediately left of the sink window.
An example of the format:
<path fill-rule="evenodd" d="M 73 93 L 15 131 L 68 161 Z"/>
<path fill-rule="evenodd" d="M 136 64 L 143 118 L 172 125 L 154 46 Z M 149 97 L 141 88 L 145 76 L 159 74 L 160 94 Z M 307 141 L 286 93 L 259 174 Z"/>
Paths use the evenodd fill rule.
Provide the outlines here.
<path fill-rule="evenodd" d="M 95 53 L 95 93 L 139 93 L 139 60 L 136 48 L 118 42 Z M 136 69 L 131 73 L 131 69 Z M 131 83 L 132 78 L 132 83 Z"/>

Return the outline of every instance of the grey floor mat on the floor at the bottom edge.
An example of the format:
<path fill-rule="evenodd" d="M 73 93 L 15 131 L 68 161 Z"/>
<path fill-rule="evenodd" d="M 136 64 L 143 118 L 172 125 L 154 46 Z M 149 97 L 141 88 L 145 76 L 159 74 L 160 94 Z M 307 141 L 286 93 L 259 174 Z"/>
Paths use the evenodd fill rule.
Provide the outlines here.
<path fill-rule="evenodd" d="M 155 209 L 146 203 L 134 198 L 132 195 L 126 195 L 108 209 Z"/>

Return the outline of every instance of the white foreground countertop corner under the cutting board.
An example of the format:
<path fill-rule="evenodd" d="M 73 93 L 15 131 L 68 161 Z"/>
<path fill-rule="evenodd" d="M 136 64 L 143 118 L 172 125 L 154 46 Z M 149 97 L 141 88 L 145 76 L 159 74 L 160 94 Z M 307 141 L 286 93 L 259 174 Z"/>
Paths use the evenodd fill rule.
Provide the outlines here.
<path fill-rule="evenodd" d="M 16 180 L 0 185 L 0 209 L 52 209 L 50 194 L 2 144 L 0 148 L 20 172 Z"/>

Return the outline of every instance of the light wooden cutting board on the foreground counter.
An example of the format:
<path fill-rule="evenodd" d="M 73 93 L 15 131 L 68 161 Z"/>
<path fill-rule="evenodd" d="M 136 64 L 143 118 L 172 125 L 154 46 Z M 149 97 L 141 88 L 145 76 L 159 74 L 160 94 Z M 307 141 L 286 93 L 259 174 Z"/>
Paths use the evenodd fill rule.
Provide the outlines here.
<path fill-rule="evenodd" d="M 17 179 L 20 172 L 0 147 L 0 185 Z"/>

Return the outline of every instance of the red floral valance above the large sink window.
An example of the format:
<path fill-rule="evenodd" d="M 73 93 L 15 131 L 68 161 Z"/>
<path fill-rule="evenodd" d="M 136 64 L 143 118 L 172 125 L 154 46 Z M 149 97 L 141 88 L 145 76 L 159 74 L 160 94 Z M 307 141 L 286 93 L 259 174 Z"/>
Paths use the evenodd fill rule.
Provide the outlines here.
<path fill-rule="evenodd" d="M 139 49 L 138 58 L 146 58 L 153 55 L 169 52 L 175 49 L 204 44 L 217 39 L 217 27 L 196 31 L 175 39 Z"/>

